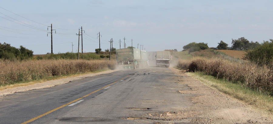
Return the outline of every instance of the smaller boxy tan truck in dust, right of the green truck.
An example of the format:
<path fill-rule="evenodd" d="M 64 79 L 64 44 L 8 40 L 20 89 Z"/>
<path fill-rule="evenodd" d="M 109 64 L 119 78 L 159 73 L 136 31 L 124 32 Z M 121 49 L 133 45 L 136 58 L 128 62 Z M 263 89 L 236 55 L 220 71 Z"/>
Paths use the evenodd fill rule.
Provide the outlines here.
<path fill-rule="evenodd" d="M 170 51 L 157 51 L 156 65 L 170 67 Z"/>

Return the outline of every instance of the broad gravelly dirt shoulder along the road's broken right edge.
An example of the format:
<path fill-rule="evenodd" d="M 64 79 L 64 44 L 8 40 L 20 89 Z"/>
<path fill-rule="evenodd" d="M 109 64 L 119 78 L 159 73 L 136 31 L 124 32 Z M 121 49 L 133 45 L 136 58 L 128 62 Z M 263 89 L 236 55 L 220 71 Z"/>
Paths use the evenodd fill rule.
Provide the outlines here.
<path fill-rule="evenodd" d="M 181 94 L 196 96 L 190 97 L 193 106 L 177 114 L 191 118 L 190 123 L 272 123 L 272 117 L 251 105 L 224 94 L 217 89 L 206 86 L 178 69 L 170 68 L 177 77 L 177 83 L 187 85 L 192 90 L 179 90 Z M 166 114 L 167 115 L 167 114 Z"/>

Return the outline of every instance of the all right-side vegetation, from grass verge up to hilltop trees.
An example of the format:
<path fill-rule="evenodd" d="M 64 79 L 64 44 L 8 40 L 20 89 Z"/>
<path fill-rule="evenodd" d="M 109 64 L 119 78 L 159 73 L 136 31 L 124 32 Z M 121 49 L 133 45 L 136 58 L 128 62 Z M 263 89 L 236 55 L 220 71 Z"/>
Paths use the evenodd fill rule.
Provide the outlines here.
<path fill-rule="evenodd" d="M 184 47 L 191 46 L 190 43 Z M 208 86 L 273 114 L 273 40 L 220 41 L 216 48 L 177 53 L 177 68 Z M 183 48 L 184 48 L 183 47 Z"/>

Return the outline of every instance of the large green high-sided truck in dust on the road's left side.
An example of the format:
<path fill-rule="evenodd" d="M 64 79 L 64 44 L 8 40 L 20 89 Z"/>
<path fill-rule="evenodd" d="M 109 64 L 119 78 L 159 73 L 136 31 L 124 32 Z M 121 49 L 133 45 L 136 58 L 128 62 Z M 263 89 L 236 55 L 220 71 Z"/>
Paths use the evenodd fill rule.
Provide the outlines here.
<path fill-rule="evenodd" d="M 141 53 L 140 49 L 124 48 L 116 50 L 116 62 L 119 68 L 135 69 L 140 67 Z"/>

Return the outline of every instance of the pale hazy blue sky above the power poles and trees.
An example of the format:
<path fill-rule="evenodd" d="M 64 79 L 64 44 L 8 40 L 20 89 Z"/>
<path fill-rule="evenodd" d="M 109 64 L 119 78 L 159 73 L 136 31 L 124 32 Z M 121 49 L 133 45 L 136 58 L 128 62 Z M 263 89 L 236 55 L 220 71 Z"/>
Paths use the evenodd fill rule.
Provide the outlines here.
<path fill-rule="evenodd" d="M 191 42 L 216 47 L 221 40 L 245 37 L 263 42 L 273 39 L 273 1 L 270 0 L 0 0 L 0 43 L 20 45 L 34 54 L 78 50 L 83 27 L 83 52 L 119 49 L 137 44 L 146 51 L 183 50 Z M 14 14 L 15 13 L 15 14 Z M 72 43 L 71 43 L 72 42 Z M 81 42 L 81 38 L 80 38 Z M 140 48 L 140 45 L 138 46 Z M 81 49 L 81 43 L 80 43 Z M 80 50 L 81 51 L 81 50 Z"/>

